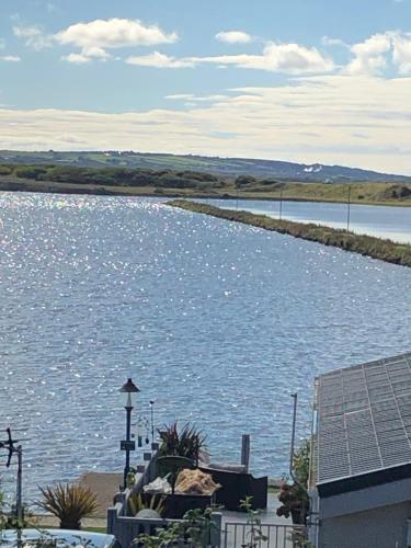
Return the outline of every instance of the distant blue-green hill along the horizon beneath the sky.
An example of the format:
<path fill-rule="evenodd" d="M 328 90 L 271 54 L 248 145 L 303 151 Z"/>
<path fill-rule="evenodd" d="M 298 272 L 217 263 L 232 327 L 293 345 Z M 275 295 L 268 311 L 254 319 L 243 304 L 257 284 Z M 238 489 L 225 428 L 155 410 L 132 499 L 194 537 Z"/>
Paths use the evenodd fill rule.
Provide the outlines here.
<path fill-rule="evenodd" d="M 53 163 L 90 168 L 149 168 L 153 170 L 190 170 L 219 175 L 253 175 L 302 182 L 410 182 L 411 176 L 378 173 L 376 171 L 342 165 L 305 164 L 276 160 L 248 158 L 219 158 L 204 156 L 176 156 L 162 153 L 118 152 L 21 152 L 0 150 L 0 163 Z"/>

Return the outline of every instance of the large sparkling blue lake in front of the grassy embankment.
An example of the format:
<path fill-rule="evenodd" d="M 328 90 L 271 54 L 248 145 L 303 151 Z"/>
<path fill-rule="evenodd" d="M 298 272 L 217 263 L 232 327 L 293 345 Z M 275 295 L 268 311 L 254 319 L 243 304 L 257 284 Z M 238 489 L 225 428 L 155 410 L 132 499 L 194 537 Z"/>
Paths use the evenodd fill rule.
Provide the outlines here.
<path fill-rule="evenodd" d="M 410 350 L 411 271 L 145 198 L 0 195 L 0 427 L 25 432 L 26 499 L 121 471 L 125 412 L 191 420 L 214 460 L 287 470 L 317 374 Z M 139 454 L 136 454 L 140 458 Z M 4 457 L 0 457 L 4 463 Z M 0 468 L 12 490 L 15 468 Z"/>

